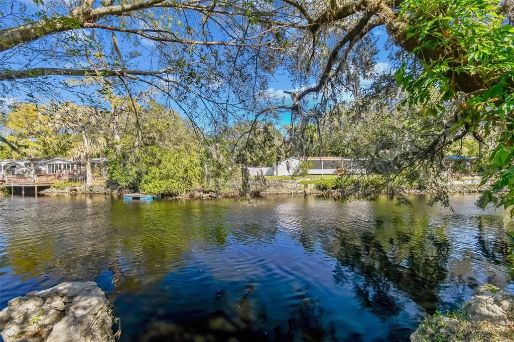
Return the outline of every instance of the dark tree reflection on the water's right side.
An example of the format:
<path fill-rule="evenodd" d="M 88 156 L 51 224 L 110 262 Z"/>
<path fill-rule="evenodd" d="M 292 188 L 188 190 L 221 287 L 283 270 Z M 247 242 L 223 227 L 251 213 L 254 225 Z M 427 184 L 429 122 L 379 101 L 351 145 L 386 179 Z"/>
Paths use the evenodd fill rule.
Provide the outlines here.
<path fill-rule="evenodd" d="M 447 274 L 449 242 L 430 232 L 427 221 L 409 222 L 409 231 L 402 229 L 406 225 L 398 219 L 393 222 L 393 229 L 388 229 L 380 219 L 376 222 L 373 233 L 342 236 L 336 281 L 346 281 L 347 271 L 360 275 L 352 277 L 356 295 L 363 307 L 383 319 L 402 310 L 393 289 L 406 293 L 433 313 L 436 287 Z"/>

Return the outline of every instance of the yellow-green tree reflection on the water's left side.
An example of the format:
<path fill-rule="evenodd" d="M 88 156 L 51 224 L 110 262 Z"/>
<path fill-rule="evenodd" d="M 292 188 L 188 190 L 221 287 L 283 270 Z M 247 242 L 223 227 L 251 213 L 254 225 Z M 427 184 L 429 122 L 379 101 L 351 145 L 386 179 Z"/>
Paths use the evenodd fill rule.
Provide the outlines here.
<path fill-rule="evenodd" d="M 39 221 L 35 230 L 44 232 L 44 238 L 24 229 L 9 232 L 2 264 L 9 265 L 14 275 L 86 281 L 108 270 L 115 291 L 144 291 L 182 267 L 183 256 L 195 245 L 223 249 L 230 232 L 223 206 L 210 206 L 208 215 L 202 216 L 197 213 L 202 203 L 193 201 L 172 206 L 127 205 L 106 198 L 66 200 L 66 206 L 60 200 L 47 201 L 45 212 L 53 215 Z M 25 214 L 38 215 L 39 210 Z M 192 213 L 196 213 L 193 221 Z"/>

